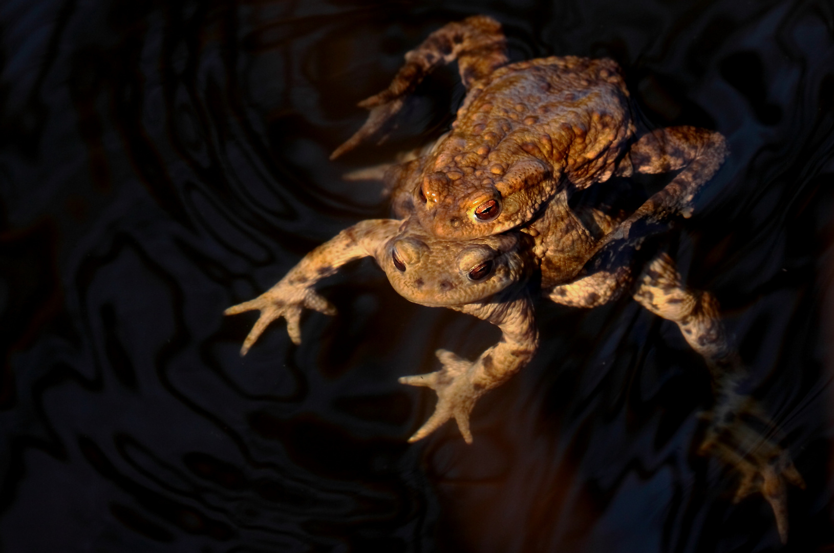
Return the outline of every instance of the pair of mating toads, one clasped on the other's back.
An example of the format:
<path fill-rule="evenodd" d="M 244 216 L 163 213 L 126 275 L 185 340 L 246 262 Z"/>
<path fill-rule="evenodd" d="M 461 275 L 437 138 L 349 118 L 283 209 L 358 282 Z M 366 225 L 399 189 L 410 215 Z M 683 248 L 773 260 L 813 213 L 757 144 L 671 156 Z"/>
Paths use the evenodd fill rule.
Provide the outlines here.
<path fill-rule="evenodd" d="M 696 193 L 726 157 L 725 139 L 693 127 L 638 133 L 614 61 L 567 56 L 509 63 L 500 23 L 474 16 L 445 25 L 406 53 L 389 88 L 359 103 L 370 110 L 367 122 L 331 158 L 384 133 L 416 85 L 455 60 L 467 92 L 451 130 L 379 175 L 398 219 L 345 229 L 264 294 L 227 309 L 260 311 L 241 353 L 279 317 L 299 344 L 305 307 L 335 314 L 314 291 L 316 281 L 371 256 L 405 299 L 472 314 L 501 329 L 500 341 L 475 361 L 439 349 L 440 370 L 399 379 L 438 395 L 434 415 L 409 441 L 454 418 L 471 443 L 475 401 L 524 367 L 538 348 L 531 289 L 586 308 L 631 293 L 674 321 L 706 359 L 716 405 L 700 451 L 740 470 L 736 499 L 765 495 L 786 540 L 786 483 L 802 485 L 802 479 L 786 451 L 745 422 L 761 415 L 736 390 L 744 371 L 727 344 L 716 300 L 686 289 L 667 254 L 642 263 L 636 255 L 675 219 L 690 216 Z M 671 183 L 625 218 L 602 205 L 575 209 L 568 203 L 572 194 L 614 175 L 672 171 L 678 173 Z"/>

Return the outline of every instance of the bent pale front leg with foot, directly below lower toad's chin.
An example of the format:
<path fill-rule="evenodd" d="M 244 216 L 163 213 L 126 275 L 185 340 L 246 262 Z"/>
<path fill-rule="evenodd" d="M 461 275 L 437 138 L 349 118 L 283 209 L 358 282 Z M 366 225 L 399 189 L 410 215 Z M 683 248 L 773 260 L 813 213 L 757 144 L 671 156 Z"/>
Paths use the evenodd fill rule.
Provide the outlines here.
<path fill-rule="evenodd" d="M 475 361 L 461 359 L 445 349 L 436 354 L 443 368 L 428 375 L 404 376 L 402 384 L 427 386 L 437 392 L 434 415 L 420 427 L 409 442 L 425 438 L 447 420 L 455 418 L 467 444 L 472 443 L 469 417 L 475 401 L 515 375 L 535 354 L 539 334 L 535 329 L 533 304 L 528 294 L 516 299 L 492 299 L 478 304 L 454 307 L 497 325 L 504 333 L 495 344 Z"/>

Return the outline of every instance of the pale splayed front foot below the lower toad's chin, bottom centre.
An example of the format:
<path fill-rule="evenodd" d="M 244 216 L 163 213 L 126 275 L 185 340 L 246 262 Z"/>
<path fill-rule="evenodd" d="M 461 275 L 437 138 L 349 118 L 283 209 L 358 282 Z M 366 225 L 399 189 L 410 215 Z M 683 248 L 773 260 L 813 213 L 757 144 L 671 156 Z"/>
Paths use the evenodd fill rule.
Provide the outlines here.
<path fill-rule="evenodd" d="M 475 367 L 480 360 L 467 361 L 446 349 L 438 349 L 435 354 L 443 364 L 442 369 L 427 375 L 403 376 L 399 379 L 400 384 L 427 386 L 437 392 L 434 415 L 425 421 L 420 430 L 414 432 L 409 442 L 422 440 L 454 417 L 460 434 L 467 444 L 471 444 L 469 416 L 475 407 L 475 401 L 486 391 L 484 386 L 475 385 L 473 382 Z"/>

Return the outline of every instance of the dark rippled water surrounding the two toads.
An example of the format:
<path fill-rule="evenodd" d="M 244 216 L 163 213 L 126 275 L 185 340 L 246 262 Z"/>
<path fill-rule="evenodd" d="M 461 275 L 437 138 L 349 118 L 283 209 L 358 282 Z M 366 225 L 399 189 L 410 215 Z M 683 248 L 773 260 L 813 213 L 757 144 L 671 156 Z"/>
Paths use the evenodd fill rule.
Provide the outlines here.
<path fill-rule="evenodd" d="M 337 318 L 223 309 L 384 217 L 346 182 L 444 132 L 455 68 L 383 148 L 328 154 L 409 48 L 474 13 L 514 59 L 610 56 L 656 126 L 732 155 L 677 238 L 721 301 L 807 488 L 785 550 L 834 550 L 831 2 L 0 3 L 0 550 L 771 551 L 761 495 L 696 455 L 706 366 L 628 299 L 544 300 L 542 348 L 473 415 L 405 440 L 489 324 L 409 304 L 372 262 L 319 286 Z"/>

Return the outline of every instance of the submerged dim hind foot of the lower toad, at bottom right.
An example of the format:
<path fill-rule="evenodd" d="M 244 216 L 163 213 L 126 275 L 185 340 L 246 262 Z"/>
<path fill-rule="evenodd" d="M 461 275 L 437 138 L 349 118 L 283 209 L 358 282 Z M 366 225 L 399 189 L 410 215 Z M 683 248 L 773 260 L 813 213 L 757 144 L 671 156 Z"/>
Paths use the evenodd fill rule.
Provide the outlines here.
<path fill-rule="evenodd" d="M 805 481 L 791 462 L 788 452 L 753 428 L 746 419 L 759 420 L 773 429 L 772 423 L 751 403 L 735 413 L 721 414 L 719 410 L 716 415 L 707 414 L 705 418 L 712 421 L 698 452 L 701 455 L 715 455 L 739 471 L 741 480 L 734 503 L 756 492 L 764 495 L 776 517 L 776 529 L 779 530 L 781 542 L 786 543 L 787 485 L 790 483 L 805 488 Z"/>

